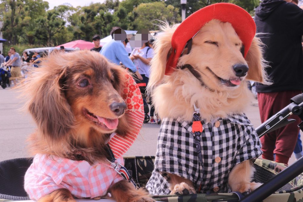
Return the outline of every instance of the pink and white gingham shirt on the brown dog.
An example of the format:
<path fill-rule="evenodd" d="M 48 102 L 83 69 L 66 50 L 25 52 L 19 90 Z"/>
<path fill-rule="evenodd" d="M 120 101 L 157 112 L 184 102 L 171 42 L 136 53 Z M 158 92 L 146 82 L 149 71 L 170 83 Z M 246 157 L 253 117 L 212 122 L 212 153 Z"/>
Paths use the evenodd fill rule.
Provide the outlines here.
<path fill-rule="evenodd" d="M 115 162 L 124 165 L 123 157 Z M 107 194 L 122 179 L 109 162 L 91 166 L 87 161 L 37 154 L 25 174 L 24 188 L 32 200 L 61 188 L 77 198 L 94 198 Z"/>

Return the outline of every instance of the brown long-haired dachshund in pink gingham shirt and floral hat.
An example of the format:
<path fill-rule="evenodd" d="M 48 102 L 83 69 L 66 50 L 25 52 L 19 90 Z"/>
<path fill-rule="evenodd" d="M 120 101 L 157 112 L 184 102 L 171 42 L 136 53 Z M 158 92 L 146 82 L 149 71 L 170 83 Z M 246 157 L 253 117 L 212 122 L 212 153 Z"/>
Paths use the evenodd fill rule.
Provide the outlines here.
<path fill-rule="evenodd" d="M 142 98 L 132 82 L 123 68 L 99 53 L 77 51 L 50 54 L 22 83 L 25 108 L 38 125 L 29 137 L 35 157 L 25 175 L 31 199 L 59 202 L 111 195 L 122 202 L 153 201 L 107 160 L 123 164 L 118 154 L 138 134 L 133 114 L 127 112 L 141 113 Z M 135 103 L 127 105 L 128 96 Z"/>

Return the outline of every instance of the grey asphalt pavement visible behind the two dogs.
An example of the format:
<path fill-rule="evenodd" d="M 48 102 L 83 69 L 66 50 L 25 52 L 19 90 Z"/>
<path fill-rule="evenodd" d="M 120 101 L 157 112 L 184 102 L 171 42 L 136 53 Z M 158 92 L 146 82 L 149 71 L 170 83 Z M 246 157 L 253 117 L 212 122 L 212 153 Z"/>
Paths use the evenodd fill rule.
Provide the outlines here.
<path fill-rule="evenodd" d="M 12 88 L 0 88 L 0 161 L 31 156 L 26 139 L 36 126 L 31 116 L 21 110 L 24 101 L 18 98 L 19 94 Z M 261 124 L 257 100 L 251 100 L 245 113 L 255 127 Z M 125 156 L 155 155 L 159 129 L 158 124 L 143 124 L 138 138 Z M 295 158 L 292 155 L 289 164 L 293 161 Z"/>

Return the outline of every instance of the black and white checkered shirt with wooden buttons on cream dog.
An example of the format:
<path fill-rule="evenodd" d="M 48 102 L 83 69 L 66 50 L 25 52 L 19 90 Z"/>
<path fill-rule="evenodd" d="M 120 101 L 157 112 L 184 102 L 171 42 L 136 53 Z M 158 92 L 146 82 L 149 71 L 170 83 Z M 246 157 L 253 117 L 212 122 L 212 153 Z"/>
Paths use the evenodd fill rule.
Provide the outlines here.
<path fill-rule="evenodd" d="M 196 190 L 202 181 L 201 193 L 227 193 L 228 174 L 238 163 L 262 154 L 256 131 L 245 114 L 233 114 L 214 123 L 203 123 L 201 152 L 204 173 L 199 165 L 191 124 L 180 118 L 162 120 L 155 169 L 146 185 L 152 195 L 169 194 L 167 173 L 194 182 Z M 220 158 L 218 158 L 220 157 Z"/>

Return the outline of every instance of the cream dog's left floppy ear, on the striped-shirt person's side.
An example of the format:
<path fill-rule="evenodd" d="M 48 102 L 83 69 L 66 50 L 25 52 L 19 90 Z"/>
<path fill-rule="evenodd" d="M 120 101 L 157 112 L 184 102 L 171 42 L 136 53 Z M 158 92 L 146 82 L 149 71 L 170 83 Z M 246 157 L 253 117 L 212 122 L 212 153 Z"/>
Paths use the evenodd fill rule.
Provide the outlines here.
<path fill-rule="evenodd" d="M 166 62 L 171 53 L 171 38 L 175 32 L 177 25 L 170 27 L 168 23 L 164 23 L 161 34 L 157 35 L 154 42 L 155 56 L 151 60 L 151 74 L 148 81 L 148 92 L 159 84 L 165 74 Z"/>

